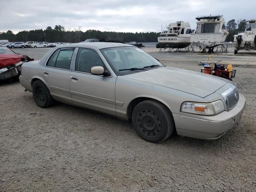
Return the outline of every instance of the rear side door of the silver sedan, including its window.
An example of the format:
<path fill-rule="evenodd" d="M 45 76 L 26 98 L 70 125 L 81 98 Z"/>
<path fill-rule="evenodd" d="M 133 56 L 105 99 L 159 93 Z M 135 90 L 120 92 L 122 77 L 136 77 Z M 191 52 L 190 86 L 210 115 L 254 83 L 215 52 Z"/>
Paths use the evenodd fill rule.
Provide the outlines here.
<path fill-rule="evenodd" d="M 72 103 L 70 94 L 70 63 L 73 58 L 75 48 L 57 49 L 48 59 L 42 76 L 51 95 L 59 101 Z"/>

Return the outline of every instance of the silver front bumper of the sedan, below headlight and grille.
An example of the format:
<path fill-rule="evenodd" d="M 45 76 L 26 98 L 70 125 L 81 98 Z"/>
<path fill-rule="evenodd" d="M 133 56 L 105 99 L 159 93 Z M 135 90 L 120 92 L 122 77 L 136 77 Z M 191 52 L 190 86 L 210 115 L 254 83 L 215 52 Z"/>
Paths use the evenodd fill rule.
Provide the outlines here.
<path fill-rule="evenodd" d="M 240 94 L 239 101 L 232 110 L 208 116 L 207 119 L 201 119 L 199 115 L 195 118 L 173 114 L 177 133 L 198 139 L 218 139 L 240 121 L 245 105 L 246 99 Z"/>

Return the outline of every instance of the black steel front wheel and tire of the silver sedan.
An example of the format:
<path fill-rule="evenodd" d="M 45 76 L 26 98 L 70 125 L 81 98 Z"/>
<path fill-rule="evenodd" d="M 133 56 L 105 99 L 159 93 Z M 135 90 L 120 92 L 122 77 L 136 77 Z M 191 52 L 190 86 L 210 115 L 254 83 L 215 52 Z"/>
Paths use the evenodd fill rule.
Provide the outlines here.
<path fill-rule="evenodd" d="M 155 100 L 145 100 L 135 106 L 132 124 L 142 139 L 153 143 L 166 140 L 174 130 L 170 110 Z"/>

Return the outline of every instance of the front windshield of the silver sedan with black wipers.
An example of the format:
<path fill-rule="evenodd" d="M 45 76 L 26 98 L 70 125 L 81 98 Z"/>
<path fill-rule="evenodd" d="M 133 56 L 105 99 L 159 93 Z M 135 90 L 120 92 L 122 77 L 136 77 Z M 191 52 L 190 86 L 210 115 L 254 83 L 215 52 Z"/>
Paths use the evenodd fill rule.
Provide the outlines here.
<path fill-rule="evenodd" d="M 113 47 L 100 50 L 117 75 L 126 75 L 164 67 L 158 60 L 136 47 Z"/>

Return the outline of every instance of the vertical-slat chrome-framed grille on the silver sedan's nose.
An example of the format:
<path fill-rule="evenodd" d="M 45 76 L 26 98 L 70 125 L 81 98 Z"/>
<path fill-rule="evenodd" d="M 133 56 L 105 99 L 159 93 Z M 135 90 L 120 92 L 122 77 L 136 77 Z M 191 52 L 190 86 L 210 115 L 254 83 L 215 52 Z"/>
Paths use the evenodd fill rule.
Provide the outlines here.
<path fill-rule="evenodd" d="M 222 93 L 222 97 L 226 103 L 226 110 L 234 108 L 239 100 L 239 92 L 236 85 L 232 85 L 228 90 Z"/>

